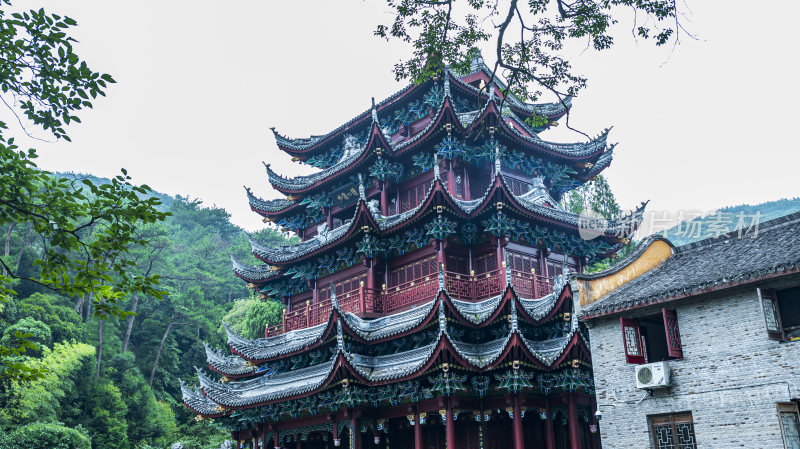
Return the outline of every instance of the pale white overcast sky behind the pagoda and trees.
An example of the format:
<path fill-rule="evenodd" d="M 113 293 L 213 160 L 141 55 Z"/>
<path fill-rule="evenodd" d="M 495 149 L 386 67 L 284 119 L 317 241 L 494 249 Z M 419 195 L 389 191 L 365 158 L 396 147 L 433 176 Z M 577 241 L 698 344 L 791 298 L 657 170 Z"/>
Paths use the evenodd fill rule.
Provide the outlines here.
<path fill-rule="evenodd" d="M 605 173 L 626 209 L 800 195 L 800 2 L 687 1 L 700 40 L 684 36 L 674 53 L 622 28 L 614 50 L 572 55 L 590 83 L 573 126 L 592 135 L 614 126 L 619 145 Z M 224 207 L 248 230 L 264 225 L 242 185 L 278 196 L 261 161 L 300 173 L 270 126 L 324 134 L 403 87 L 391 69 L 406 48 L 372 36 L 391 19 L 380 0 L 45 3 L 78 21 L 78 54 L 118 84 L 80 114 L 72 143 L 21 139 L 39 149 L 39 165 L 99 176 L 125 167 L 138 183 Z M 14 123 L 7 112 L 0 119 Z M 563 126 L 543 137 L 582 139 Z"/>

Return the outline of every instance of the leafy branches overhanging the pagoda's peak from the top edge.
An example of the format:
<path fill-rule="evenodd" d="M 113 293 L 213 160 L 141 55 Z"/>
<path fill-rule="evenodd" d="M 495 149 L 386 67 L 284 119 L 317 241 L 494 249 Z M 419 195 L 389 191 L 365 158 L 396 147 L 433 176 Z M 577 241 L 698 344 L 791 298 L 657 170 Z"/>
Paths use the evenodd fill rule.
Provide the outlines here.
<path fill-rule="evenodd" d="M 504 93 L 536 101 L 543 91 L 559 101 L 576 95 L 586 78 L 574 73 L 563 56 L 576 43 L 606 50 L 620 15 L 632 12 L 635 37 L 656 45 L 679 42 L 684 32 L 675 0 L 386 0 L 394 18 L 375 35 L 410 43 L 412 56 L 395 66 L 397 79 L 423 82 L 448 64 L 468 72 L 475 47 L 495 49 L 494 74 L 508 81 Z M 485 24 L 491 23 L 492 27 Z M 626 30 L 627 31 L 627 30 Z M 569 126 L 569 115 L 567 115 Z"/>

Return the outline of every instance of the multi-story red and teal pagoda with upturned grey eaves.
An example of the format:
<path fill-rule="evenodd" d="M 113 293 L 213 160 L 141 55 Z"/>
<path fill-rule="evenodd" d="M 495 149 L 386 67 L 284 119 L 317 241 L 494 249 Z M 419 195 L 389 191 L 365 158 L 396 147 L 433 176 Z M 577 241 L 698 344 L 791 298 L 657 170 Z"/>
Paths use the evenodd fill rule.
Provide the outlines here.
<path fill-rule="evenodd" d="M 286 305 L 264 338 L 207 347 L 199 416 L 240 448 L 598 448 L 587 333 L 567 272 L 626 242 L 636 212 L 581 239 L 561 197 L 611 162 L 606 132 L 539 134 L 569 103 L 503 98 L 481 59 L 308 139 L 275 133 L 295 161 L 285 199 L 251 208 L 301 242 L 252 241 L 233 261 Z M 540 126 L 532 126 L 531 124 Z"/>

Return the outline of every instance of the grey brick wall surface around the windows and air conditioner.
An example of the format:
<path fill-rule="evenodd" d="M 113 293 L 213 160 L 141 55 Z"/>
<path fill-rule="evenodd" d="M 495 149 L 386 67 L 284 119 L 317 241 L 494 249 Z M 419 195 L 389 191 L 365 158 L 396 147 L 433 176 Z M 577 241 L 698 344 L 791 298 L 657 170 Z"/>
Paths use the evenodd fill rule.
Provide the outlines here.
<path fill-rule="evenodd" d="M 648 415 L 690 411 L 700 448 L 782 449 L 775 404 L 800 397 L 800 342 L 767 338 L 755 288 L 668 307 L 677 310 L 684 358 L 668 362 L 674 386 L 638 404 L 646 393 L 625 362 L 619 316 L 587 323 L 603 448 L 651 448 Z"/>

